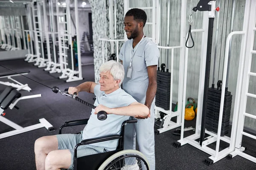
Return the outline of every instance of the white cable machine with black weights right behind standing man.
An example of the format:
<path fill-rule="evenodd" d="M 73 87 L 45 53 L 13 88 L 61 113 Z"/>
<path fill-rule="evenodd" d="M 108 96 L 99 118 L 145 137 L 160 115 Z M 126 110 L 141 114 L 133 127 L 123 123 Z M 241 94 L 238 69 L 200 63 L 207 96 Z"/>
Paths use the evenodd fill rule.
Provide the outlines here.
<path fill-rule="evenodd" d="M 162 63 L 162 57 L 159 59 L 158 70 L 157 70 L 157 94 L 156 94 L 156 106 L 155 106 L 155 133 L 160 134 L 168 130 L 172 130 L 176 127 L 181 126 L 181 111 L 182 105 L 178 105 L 177 111 L 172 111 L 172 95 L 173 95 L 173 66 L 174 66 L 174 50 L 180 50 L 179 56 L 179 82 L 178 82 L 178 103 L 182 103 L 182 94 L 183 94 L 183 74 L 184 74 L 184 54 L 185 54 L 185 31 L 186 31 L 186 0 L 181 1 L 181 15 L 180 15 L 180 45 L 179 46 L 169 46 L 169 27 L 170 27 L 170 8 L 171 0 L 168 0 L 167 6 L 167 45 L 161 46 L 160 37 L 161 37 L 161 6 L 162 1 L 158 1 L 157 11 L 158 11 L 158 45 L 160 51 L 165 49 L 167 51 L 167 63 L 166 65 Z M 171 50 L 171 72 L 169 72 L 169 50 Z M 166 67 L 167 66 L 167 67 Z M 165 69 L 166 68 L 166 69 Z M 164 91 L 164 92 L 162 92 Z M 172 117 L 177 116 L 177 121 L 172 121 Z"/>

